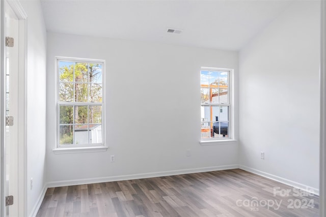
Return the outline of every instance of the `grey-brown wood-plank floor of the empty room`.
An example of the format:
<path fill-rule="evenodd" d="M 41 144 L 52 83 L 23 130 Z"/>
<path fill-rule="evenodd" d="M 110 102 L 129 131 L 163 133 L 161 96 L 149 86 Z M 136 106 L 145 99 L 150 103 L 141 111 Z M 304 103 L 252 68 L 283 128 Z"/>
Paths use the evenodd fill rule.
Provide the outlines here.
<path fill-rule="evenodd" d="M 49 188 L 41 216 L 318 216 L 319 197 L 240 169 Z"/>

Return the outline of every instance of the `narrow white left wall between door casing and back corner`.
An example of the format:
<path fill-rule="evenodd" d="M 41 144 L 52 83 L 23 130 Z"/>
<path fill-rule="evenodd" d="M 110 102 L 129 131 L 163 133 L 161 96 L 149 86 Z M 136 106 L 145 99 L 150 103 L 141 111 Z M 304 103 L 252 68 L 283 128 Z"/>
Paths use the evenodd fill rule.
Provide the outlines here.
<path fill-rule="evenodd" d="M 27 213 L 30 215 L 45 184 L 46 29 L 40 1 L 21 1 L 21 5 L 28 15 L 26 181 Z"/>

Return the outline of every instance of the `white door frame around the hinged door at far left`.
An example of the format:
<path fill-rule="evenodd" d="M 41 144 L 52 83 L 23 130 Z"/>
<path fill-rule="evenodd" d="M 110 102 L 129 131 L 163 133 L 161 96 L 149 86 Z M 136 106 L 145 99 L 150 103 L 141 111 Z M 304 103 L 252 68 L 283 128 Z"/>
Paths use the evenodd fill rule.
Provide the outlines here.
<path fill-rule="evenodd" d="M 6 1 L 6 0 L 5 0 Z M 3 213 L 0 213 L 1 216 L 5 216 L 5 162 L 6 162 L 6 143 L 5 143 L 5 130 L 6 130 L 6 120 L 5 120 L 5 60 L 6 60 L 6 47 L 5 47 L 5 1 L 1 1 L 0 4 L 0 23 L 1 23 L 1 52 L 0 52 L 0 210 Z M 18 48 L 18 117 L 16 118 L 16 124 L 18 124 L 18 174 L 23 174 L 18 176 L 18 214 L 19 216 L 26 216 L 27 213 L 27 149 L 26 149 L 26 64 L 27 64 L 27 14 L 22 8 L 18 0 L 6 1 L 8 5 L 15 12 L 18 17 L 18 28 L 19 36 L 16 43 L 19 44 Z"/>

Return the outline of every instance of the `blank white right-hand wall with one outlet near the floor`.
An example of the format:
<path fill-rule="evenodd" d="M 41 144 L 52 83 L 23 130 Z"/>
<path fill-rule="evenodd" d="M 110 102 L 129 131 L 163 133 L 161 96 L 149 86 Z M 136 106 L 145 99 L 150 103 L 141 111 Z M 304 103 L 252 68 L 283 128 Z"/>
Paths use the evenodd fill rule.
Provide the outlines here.
<path fill-rule="evenodd" d="M 241 168 L 315 189 L 319 4 L 293 3 L 239 52 Z M 265 160 L 260 159 L 261 151 Z"/>

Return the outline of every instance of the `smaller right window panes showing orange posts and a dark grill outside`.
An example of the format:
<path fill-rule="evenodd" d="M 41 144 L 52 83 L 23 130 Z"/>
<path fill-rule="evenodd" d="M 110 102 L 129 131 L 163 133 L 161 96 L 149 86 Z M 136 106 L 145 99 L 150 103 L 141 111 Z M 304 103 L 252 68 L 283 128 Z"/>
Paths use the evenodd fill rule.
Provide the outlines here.
<path fill-rule="evenodd" d="M 201 68 L 201 139 L 221 140 L 231 135 L 231 70 Z"/>

